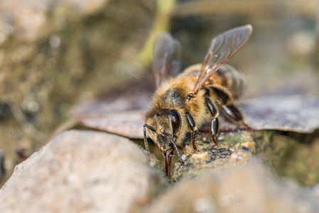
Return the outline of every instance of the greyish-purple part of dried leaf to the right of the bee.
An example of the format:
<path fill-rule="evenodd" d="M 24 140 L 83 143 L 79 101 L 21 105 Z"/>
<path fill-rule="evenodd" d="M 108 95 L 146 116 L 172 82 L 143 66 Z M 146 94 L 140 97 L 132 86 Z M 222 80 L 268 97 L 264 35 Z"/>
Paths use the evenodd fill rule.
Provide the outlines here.
<path fill-rule="evenodd" d="M 240 107 L 253 129 L 311 133 L 319 128 L 318 97 L 259 97 L 243 102 Z"/>

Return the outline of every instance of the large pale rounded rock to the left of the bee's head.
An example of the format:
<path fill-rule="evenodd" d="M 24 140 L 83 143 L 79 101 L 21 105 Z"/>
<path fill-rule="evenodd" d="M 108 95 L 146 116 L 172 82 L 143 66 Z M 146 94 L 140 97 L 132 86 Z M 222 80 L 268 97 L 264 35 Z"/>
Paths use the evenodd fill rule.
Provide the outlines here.
<path fill-rule="evenodd" d="M 0 212 L 128 212 L 161 185 L 147 155 L 126 138 L 67 131 L 16 166 Z"/>

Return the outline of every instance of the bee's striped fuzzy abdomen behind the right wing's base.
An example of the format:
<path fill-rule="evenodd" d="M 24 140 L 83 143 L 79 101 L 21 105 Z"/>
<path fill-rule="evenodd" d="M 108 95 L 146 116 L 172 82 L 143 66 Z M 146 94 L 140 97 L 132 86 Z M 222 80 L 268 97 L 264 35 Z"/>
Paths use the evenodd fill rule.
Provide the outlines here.
<path fill-rule="evenodd" d="M 247 78 L 244 74 L 229 65 L 223 65 L 212 77 L 214 84 L 220 84 L 229 89 L 234 99 L 240 97 L 247 87 Z"/>

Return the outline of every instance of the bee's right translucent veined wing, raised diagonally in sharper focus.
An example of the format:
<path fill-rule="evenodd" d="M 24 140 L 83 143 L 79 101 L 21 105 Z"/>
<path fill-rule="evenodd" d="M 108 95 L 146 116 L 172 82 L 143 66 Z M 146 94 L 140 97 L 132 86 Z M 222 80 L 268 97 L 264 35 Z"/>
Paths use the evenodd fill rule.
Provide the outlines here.
<path fill-rule="evenodd" d="M 252 35 L 252 26 L 245 25 L 232 28 L 213 38 L 191 94 L 197 94 L 212 74 L 242 49 L 250 35 Z"/>

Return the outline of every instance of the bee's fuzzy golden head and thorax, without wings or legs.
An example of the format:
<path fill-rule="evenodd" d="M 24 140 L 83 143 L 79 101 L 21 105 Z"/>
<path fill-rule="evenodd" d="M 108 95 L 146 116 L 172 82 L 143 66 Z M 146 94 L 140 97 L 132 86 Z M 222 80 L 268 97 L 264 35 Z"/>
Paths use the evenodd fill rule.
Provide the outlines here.
<path fill-rule="evenodd" d="M 192 114 L 197 124 L 202 124 L 204 120 L 206 109 L 202 99 L 203 91 L 191 102 L 187 101 L 188 93 L 194 84 L 195 76 L 179 75 L 168 80 L 155 92 L 146 114 L 146 124 L 155 129 L 155 132 L 148 129 L 148 133 L 162 151 L 171 148 L 172 144 L 170 138 L 161 131 L 171 134 L 176 145 L 182 146 L 186 134 L 190 131 L 185 114 Z"/>

